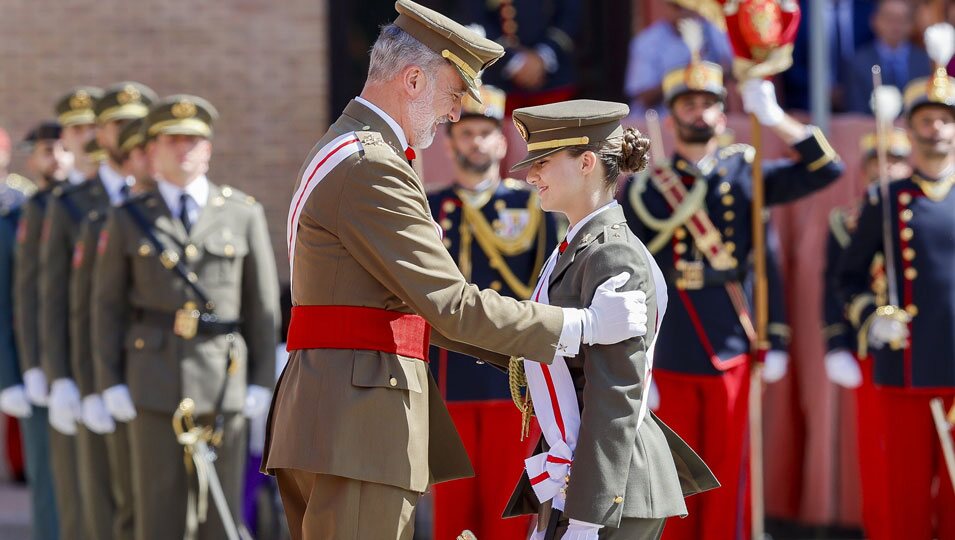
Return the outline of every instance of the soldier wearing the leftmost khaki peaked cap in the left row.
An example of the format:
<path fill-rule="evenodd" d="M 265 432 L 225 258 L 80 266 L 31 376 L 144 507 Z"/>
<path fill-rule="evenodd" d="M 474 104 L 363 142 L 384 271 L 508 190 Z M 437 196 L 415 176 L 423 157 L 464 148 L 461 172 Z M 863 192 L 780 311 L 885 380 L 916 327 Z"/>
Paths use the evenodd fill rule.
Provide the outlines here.
<path fill-rule="evenodd" d="M 80 221 L 87 211 L 105 199 L 95 176 L 96 166 L 86 155 L 86 144 L 95 136 L 95 100 L 103 91 L 77 87 L 60 98 L 56 111 L 63 126 L 63 146 L 73 155 L 68 184 L 53 189 L 44 212 L 40 233 L 38 277 L 40 362 L 51 381 L 49 416 L 50 456 L 62 538 L 87 538 L 79 489 L 76 422 L 82 416 L 80 393 L 73 380 L 69 360 L 69 273 L 73 244 Z M 73 191 L 76 191 L 74 194 Z M 64 196 L 69 193 L 69 196 Z"/>

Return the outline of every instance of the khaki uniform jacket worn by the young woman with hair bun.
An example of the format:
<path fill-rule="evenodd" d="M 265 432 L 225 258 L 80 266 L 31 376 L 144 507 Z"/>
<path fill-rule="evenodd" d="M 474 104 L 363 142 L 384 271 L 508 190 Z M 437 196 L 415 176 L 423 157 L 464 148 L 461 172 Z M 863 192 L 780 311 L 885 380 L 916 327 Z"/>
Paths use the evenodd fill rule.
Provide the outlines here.
<path fill-rule="evenodd" d="M 588 306 L 601 283 L 624 271 L 631 278 L 622 290 L 647 295 L 647 335 L 584 346 L 567 359 L 581 423 L 564 517 L 610 527 L 619 527 L 622 518 L 686 515 L 684 496 L 719 486 L 699 456 L 652 412 L 637 428 L 647 347 L 657 332 L 657 297 L 646 252 L 619 206 L 587 222 L 561 254 L 550 277 L 550 303 Z M 545 447 L 541 438 L 535 454 Z M 537 512 L 539 506 L 525 472 L 504 515 Z"/>

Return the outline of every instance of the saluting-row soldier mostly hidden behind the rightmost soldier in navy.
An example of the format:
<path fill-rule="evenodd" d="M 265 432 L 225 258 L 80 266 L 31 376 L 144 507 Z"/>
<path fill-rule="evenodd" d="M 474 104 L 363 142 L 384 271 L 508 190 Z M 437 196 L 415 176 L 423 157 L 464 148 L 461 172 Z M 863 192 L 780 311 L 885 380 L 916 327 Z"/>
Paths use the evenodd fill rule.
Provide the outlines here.
<path fill-rule="evenodd" d="M 862 152 L 862 177 L 867 184 L 879 181 L 879 160 L 876 133 L 868 133 L 859 141 Z M 885 143 L 888 177 L 890 181 L 908 178 L 912 174 L 909 156 L 912 145 L 904 129 L 892 130 Z M 863 204 L 865 201 L 861 201 Z M 890 509 L 886 499 L 885 454 L 877 436 L 879 424 L 877 405 L 872 385 L 872 362 L 856 358 L 856 339 L 851 324 L 839 301 L 839 260 L 855 232 L 861 207 L 837 207 L 829 214 L 829 237 L 826 240 L 826 270 L 823 294 L 823 320 L 826 339 L 825 367 L 829 380 L 839 386 L 855 389 L 859 469 L 862 489 L 862 526 L 871 537 L 885 530 L 885 516 Z M 880 305 L 885 304 L 885 274 L 881 256 L 873 260 L 872 292 Z M 861 368 L 861 369 L 860 369 Z"/>

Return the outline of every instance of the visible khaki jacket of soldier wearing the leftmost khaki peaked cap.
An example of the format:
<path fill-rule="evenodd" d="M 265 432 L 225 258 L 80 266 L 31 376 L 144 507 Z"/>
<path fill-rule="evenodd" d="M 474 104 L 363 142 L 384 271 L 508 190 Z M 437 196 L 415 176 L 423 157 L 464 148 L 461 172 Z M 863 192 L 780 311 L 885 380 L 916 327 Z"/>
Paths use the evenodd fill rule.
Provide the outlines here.
<path fill-rule="evenodd" d="M 53 190 L 40 240 L 40 360 L 47 379 L 73 378 L 70 366 L 70 274 L 80 224 L 109 207 L 99 177 Z"/>

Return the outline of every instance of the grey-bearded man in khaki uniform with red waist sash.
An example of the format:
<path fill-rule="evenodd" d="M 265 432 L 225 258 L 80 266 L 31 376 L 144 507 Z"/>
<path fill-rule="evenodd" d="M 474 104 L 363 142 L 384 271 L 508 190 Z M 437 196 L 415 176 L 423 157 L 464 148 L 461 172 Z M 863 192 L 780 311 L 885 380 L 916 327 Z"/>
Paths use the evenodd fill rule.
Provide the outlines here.
<path fill-rule="evenodd" d="M 506 365 L 505 355 L 549 362 L 646 331 L 636 294 L 561 310 L 464 279 L 410 145 L 457 120 L 465 93 L 480 99 L 475 77 L 504 51 L 409 0 L 396 9 L 361 96 L 308 156 L 289 209 L 291 355 L 263 469 L 278 476 L 296 539 L 410 539 L 421 493 L 472 474 L 425 365 L 429 336 Z"/>

